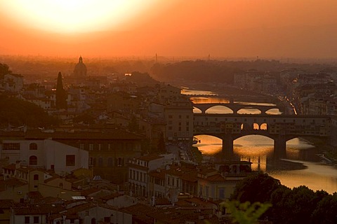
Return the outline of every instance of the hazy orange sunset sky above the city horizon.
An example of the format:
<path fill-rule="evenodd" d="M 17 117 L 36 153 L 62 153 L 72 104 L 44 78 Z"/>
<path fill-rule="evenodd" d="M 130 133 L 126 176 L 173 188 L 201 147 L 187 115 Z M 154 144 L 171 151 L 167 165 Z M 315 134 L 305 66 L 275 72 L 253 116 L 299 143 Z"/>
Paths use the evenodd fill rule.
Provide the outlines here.
<path fill-rule="evenodd" d="M 336 0 L 0 0 L 0 55 L 336 57 Z"/>

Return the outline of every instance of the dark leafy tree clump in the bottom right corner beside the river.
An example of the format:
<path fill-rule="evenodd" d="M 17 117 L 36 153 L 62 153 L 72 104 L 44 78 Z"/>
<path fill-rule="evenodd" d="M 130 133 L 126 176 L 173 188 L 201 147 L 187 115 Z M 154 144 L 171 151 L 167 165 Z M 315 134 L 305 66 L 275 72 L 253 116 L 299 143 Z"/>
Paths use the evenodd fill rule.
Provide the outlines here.
<path fill-rule="evenodd" d="M 239 202 L 270 203 L 263 214 L 272 223 L 337 223 L 337 193 L 307 186 L 287 188 L 268 174 L 256 173 L 240 181 L 231 197 Z"/>

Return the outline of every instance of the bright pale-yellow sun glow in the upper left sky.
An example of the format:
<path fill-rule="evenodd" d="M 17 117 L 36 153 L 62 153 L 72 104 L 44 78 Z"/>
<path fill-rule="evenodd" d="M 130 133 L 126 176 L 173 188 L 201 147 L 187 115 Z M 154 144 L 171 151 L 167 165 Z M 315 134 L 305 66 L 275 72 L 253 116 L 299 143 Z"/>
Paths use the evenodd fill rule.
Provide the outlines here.
<path fill-rule="evenodd" d="M 152 3 L 142 0 L 11 0 L 1 2 L 0 10 L 34 29 L 76 33 L 113 29 Z"/>

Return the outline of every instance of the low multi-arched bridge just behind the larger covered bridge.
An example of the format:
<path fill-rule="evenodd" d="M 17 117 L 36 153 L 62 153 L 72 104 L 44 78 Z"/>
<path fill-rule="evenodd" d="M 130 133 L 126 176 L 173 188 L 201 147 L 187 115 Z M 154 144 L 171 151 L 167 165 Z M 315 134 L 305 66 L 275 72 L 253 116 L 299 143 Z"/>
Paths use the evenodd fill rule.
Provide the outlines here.
<path fill-rule="evenodd" d="M 279 109 L 284 111 L 284 106 L 281 105 L 260 105 L 260 104 L 240 104 L 240 103 L 207 103 L 207 104 L 193 104 L 194 108 L 197 108 L 201 113 L 206 113 L 208 109 L 213 106 L 224 106 L 233 111 L 233 114 L 237 114 L 237 111 L 241 109 L 258 109 L 261 114 L 266 114 L 270 109 Z"/>

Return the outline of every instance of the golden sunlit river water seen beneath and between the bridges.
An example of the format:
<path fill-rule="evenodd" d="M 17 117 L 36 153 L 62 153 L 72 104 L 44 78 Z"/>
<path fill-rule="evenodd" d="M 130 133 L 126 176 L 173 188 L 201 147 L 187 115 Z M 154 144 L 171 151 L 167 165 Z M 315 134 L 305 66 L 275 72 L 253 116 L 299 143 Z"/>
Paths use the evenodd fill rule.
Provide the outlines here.
<path fill-rule="evenodd" d="M 192 90 L 189 90 L 189 93 L 190 91 Z M 197 94 L 201 94 L 201 92 L 202 90 L 199 90 Z M 209 97 L 191 97 L 191 99 L 194 103 L 228 102 L 227 99 L 217 98 L 213 92 L 208 93 Z M 251 104 L 260 103 L 252 102 Z M 194 113 L 200 113 L 200 111 L 194 109 Z M 232 111 L 223 106 L 215 106 L 206 113 L 232 113 Z M 259 113 L 259 111 L 242 109 L 238 113 Z M 268 113 L 277 114 L 280 112 L 277 109 L 272 109 Z M 194 146 L 197 146 L 199 151 L 203 153 L 204 160 L 213 160 L 213 155 L 221 151 L 221 139 L 208 135 L 196 137 L 200 142 Z M 287 141 L 286 160 L 275 160 L 273 158 L 273 144 L 272 139 L 259 135 L 241 137 L 234 141 L 234 155 L 239 160 L 252 162 L 253 170 L 266 172 L 275 179 L 279 179 L 284 186 L 289 188 L 308 186 L 312 190 L 325 190 L 330 194 L 337 191 L 336 167 L 322 162 L 317 155 L 319 149 L 315 148 L 310 142 L 300 138 Z"/>

